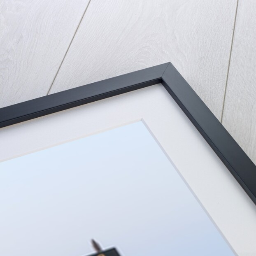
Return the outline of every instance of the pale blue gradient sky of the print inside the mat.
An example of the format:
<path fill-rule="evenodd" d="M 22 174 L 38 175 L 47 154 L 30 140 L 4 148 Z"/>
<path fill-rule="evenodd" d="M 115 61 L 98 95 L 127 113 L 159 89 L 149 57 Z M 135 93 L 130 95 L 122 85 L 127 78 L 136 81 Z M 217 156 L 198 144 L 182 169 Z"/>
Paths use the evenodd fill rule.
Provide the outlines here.
<path fill-rule="evenodd" d="M 234 256 L 142 122 L 0 163 L 0 205 L 3 256 Z"/>

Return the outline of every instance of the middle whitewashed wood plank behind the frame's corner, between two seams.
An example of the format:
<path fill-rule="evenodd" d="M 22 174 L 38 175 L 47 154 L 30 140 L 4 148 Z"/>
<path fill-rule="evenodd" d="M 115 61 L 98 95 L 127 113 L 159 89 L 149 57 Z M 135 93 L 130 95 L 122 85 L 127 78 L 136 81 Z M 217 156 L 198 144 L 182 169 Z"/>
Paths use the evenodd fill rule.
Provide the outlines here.
<path fill-rule="evenodd" d="M 92 0 L 50 93 L 171 61 L 220 118 L 236 0 Z"/>

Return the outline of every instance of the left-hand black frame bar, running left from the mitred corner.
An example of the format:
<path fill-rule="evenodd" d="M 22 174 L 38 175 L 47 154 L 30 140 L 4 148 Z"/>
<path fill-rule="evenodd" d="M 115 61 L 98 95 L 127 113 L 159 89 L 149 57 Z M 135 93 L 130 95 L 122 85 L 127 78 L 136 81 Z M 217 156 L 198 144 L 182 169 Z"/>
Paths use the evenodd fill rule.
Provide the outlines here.
<path fill-rule="evenodd" d="M 0 108 L 0 128 L 161 83 L 169 63 Z"/>

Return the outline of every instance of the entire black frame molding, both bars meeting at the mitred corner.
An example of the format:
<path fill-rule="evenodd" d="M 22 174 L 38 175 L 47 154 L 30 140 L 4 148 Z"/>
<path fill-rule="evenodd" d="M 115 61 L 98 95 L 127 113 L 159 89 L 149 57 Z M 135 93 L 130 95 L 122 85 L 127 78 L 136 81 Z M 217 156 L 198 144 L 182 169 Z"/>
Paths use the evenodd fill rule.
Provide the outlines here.
<path fill-rule="evenodd" d="M 162 83 L 256 204 L 256 166 L 169 62 L 0 109 L 0 128 Z"/>

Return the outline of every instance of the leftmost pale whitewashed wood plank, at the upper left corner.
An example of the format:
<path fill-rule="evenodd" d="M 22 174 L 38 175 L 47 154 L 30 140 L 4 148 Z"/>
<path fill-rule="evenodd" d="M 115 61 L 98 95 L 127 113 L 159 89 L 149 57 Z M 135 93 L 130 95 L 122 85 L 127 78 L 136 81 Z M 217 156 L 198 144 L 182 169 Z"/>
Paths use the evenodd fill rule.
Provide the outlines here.
<path fill-rule="evenodd" d="M 0 107 L 47 94 L 87 4 L 0 1 Z"/>

